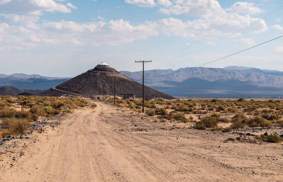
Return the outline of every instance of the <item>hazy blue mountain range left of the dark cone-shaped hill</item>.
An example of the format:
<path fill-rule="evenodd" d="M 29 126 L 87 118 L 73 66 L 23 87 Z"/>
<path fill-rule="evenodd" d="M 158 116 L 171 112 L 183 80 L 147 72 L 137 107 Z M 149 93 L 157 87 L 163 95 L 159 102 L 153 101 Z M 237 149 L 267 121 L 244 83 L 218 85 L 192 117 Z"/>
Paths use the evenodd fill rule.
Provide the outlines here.
<path fill-rule="evenodd" d="M 0 87 L 14 86 L 19 89 L 47 90 L 53 86 L 64 83 L 69 79 L 71 78 L 45 77 L 41 75 L 27 75 L 22 73 L 15 73 L 12 75 L 0 74 Z"/>

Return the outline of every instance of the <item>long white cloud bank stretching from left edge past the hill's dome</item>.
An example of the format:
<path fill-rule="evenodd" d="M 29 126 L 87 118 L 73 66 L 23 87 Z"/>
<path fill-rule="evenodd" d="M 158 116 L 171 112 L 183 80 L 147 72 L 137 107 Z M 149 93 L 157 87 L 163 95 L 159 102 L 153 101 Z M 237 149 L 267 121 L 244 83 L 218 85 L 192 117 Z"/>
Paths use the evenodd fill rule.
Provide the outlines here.
<path fill-rule="evenodd" d="M 74 21 L 44 22 L 35 24 L 37 29 L 27 25 L 0 23 L 1 46 L 13 49 L 29 49 L 39 45 L 98 46 L 119 45 L 158 35 L 147 25 L 132 26 L 129 21 L 110 20 L 89 23 Z"/>

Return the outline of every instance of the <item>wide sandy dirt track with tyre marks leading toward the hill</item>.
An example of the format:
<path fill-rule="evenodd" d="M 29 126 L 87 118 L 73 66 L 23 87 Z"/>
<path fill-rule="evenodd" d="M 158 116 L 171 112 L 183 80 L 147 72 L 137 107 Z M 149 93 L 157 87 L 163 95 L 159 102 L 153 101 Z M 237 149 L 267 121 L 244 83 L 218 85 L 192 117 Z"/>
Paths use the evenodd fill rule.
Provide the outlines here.
<path fill-rule="evenodd" d="M 42 134 L 13 167 L 0 169 L 0 179 L 283 181 L 282 144 L 223 142 L 236 135 L 162 130 L 167 124 L 133 123 L 130 119 L 141 117 L 95 103 L 96 109 L 78 110 L 56 130 Z M 147 131 L 131 129 L 137 127 Z"/>

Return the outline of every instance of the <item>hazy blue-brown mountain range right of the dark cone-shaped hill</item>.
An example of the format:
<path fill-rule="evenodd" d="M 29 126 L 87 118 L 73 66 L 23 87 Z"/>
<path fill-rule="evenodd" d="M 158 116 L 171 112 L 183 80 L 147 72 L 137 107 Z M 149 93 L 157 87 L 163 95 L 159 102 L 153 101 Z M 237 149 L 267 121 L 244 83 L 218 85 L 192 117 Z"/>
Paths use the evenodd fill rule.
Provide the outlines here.
<path fill-rule="evenodd" d="M 120 73 L 142 83 L 142 71 Z M 186 67 L 144 73 L 147 86 L 175 97 L 283 97 L 283 72 L 275 70 Z"/>

